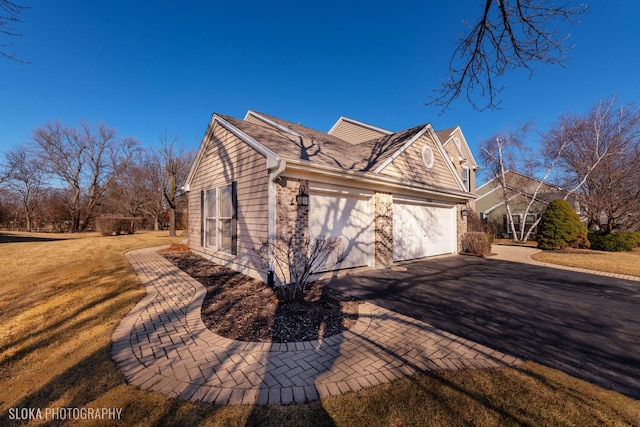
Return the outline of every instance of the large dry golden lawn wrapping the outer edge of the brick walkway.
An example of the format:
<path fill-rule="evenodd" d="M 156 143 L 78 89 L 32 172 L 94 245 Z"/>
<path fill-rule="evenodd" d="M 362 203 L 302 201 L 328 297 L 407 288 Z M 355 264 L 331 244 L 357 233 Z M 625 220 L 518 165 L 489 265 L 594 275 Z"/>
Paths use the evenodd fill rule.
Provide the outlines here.
<path fill-rule="evenodd" d="M 175 242 L 162 234 L 0 244 L 0 425 L 25 424 L 9 419 L 15 407 L 122 408 L 122 426 L 640 425 L 640 402 L 533 363 L 292 406 L 219 407 L 139 390 L 111 361 L 110 338 L 144 294 L 123 254 Z"/>

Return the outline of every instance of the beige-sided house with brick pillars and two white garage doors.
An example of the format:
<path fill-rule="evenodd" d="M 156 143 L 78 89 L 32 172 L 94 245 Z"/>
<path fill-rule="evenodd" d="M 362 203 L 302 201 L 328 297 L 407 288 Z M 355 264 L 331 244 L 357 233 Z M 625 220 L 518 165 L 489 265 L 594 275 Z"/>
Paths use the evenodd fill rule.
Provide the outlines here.
<path fill-rule="evenodd" d="M 214 114 L 185 186 L 189 244 L 262 279 L 254 249 L 281 234 L 341 237 L 336 268 L 456 253 L 476 169 L 460 128 L 391 132 L 341 117 L 324 133 L 254 111 Z"/>

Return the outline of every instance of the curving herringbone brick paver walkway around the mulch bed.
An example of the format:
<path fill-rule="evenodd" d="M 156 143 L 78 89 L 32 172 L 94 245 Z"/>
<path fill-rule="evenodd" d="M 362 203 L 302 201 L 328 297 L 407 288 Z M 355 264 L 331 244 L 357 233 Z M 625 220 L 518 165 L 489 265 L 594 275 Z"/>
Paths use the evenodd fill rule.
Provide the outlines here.
<path fill-rule="evenodd" d="M 323 340 L 254 343 L 223 338 L 200 317 L 205 288 L 157 254 L 127 254 L 147 295 L 113 333 L 127 381 L 184 400 L 287 404 L 317 400 L 417 372 L 519 360 L 364 302 L 355 327 Z"/>

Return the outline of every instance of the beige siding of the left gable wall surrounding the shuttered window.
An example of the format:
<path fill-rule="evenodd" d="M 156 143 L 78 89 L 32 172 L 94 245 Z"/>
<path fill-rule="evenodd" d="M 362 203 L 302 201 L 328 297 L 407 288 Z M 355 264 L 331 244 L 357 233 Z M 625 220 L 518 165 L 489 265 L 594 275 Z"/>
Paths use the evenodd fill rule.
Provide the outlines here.
<path fill-rule="evenodd" d="M 236 181 L 237 255 L 203 248 L 200 192 Z M 214 260 L 252 268 L 251 255 L 260 238 L 268 234 L 268 174 L 266 158 L 216 125 L 191 182 L 189 193 L 189 243 Z"/>

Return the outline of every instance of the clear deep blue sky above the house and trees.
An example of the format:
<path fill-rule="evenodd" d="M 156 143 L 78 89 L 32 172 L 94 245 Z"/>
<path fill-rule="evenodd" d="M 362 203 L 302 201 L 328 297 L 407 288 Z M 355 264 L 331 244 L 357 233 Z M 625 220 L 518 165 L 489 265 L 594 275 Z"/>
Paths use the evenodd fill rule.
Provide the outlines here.
<path fill-rule="evenodd" d="M 459 99 L 444 115 L 425 103 L 481 0 L 30 3 L 24 37 L 11 40 L 30 63 L 0 58 L 0 152 L 47 121 L 81 119 L 149 146 L 177 134 L 195 149 L 213 112 L 253 109 L 322 131 L 341 115 L 393 131 L 460 125 L 477 156 L 518 122 L 545 129 L 615 94 L 640 104 L 636 0 L 591 4 L 568 29 L 566 66 L 503 78 L 501 110 Z"/>

